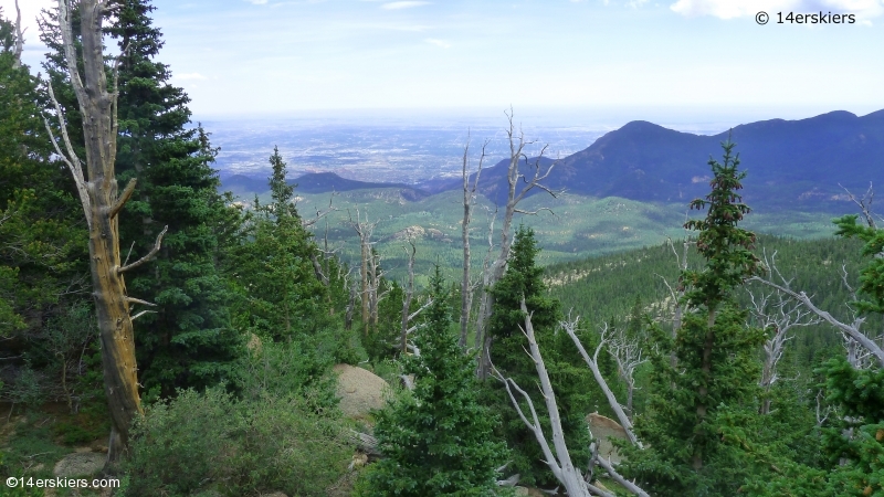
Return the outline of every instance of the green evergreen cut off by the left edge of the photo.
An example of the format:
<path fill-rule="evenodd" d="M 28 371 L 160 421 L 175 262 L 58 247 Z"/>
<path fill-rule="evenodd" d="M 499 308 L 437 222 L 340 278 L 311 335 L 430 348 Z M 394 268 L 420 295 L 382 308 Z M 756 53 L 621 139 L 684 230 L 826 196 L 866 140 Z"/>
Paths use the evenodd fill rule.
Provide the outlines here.
<path fill-rule="evenodd" d="M 82 298 L 87 234 L 70 173 L 51 158 L 45 96 L 29 67 L 15 67 L 13 45 L 0 10 L 0 342 L 19 338 L 0 358 L 14 370 L 21 357 L 35 368 L 53 360 L 41 330 Z"/>

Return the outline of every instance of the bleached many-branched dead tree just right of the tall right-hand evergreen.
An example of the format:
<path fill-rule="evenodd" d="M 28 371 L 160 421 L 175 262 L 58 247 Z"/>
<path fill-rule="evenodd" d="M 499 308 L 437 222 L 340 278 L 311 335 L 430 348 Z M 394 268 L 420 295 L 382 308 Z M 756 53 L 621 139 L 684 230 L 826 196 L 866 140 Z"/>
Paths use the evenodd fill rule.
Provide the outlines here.
<path fill-rule="evenodd" d="M 765 254 L 766 264 L 768 267 L 772 266 L 774 271 L 777 271 L 776 257 L 776 252 L 769 260 Z M 777 274 L 779 274 L 778 271 Z M 809 310 L 804 310 L 803 305 L 789 298 L 780 290 L 770 293 L 749 292 L 749 298 L 753 303 L 750 311 L 755 316 L 756 322 L 771 334 L 765 341 L 765 363 L 761 369 L 761 379 L 758 381 L 758 385 L 765 392 L 765 399 L 761 402 L 759 412 L 768 414 L 770 413 L 770 389 L 779 380 L 777 364 L 782 358 L 786 342 L 793 338 L 790 331 L 796 327 L 818 325 L 822 320 L 819 317 L 811 316 Z"/>

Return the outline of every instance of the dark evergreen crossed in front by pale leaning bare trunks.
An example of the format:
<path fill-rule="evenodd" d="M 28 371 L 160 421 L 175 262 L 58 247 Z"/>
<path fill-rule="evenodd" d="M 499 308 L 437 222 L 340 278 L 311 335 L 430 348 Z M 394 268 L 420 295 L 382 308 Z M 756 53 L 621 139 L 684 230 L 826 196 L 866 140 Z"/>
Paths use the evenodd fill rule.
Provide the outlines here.
<path fill-rule="evenodd" d="M 556 391 L 565 436 L 568 446 L 572 447 L 571 457 L 575 464 L 582 465 L 588 458 L 589 447 L 585 416 L 596 391 L 589 387 L 592 384 L 591 372 L 586 368 L 570 338 L 565 332 L 556 332 L 562 319 L 560 304 L 548 296 L 543 281 L 544 269 L 536 263 L 539 252 L 534 230 L 519 226 L 513 239 L 506 273 L 491 288 L 494 295 L 494 308 L 488 321 L 488 332 L 493 337 L 491 359 L 498 370 L 518 384 L 534 384 L 537 381 L 534 362 L 525 353 L 527 339 L 522 331 L 525 315 L 520 308 L 524 297 Z M 495 383 L 487 385 L 486 390 L 487 402 L 503 413 L 503 435 L 514 452 L 513 470 L 519 473 L 523 480 L 529 484 L 556 485 L 556 478 L 544 463 L 544 454 L 534 434 L 525 427 L 509 405 L 509 398 L 503 387 Z M 541 424 L 549 430 L 549 415 L 539 392 L 536 389 L 528 391 L 534 394 L 534 404 Z"/>

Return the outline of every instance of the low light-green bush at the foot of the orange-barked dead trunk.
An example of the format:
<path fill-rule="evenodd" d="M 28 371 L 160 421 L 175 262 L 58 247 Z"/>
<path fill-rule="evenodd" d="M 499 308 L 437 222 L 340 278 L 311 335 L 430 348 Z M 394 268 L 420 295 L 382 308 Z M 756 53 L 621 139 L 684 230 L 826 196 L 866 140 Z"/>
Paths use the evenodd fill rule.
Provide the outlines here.
<path fill-rule="evenodd" d="M 180 391 L 133 427 L 126 496 L 323 496 L 351 455 L 339 414 L 299 395 Z"/>

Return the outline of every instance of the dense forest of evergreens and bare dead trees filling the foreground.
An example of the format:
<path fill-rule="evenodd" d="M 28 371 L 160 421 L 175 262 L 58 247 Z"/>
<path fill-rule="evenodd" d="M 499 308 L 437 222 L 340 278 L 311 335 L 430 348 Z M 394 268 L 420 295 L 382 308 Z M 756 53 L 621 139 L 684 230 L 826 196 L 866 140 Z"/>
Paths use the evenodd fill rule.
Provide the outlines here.
<path fill-rule="evenodd" d="M 514 215 L 555 170 L 511 110 L 495 244 L 465 152 L 462 265 L 404 239 L 388 278 L 377 221 L 340 257 L 278 150 L 269 199 L 219 193 L 152 11 L 60 0 L 38 76 L 0 11 L 0 495 L 884 496 L 871 189 L 828 239 L 749 232 L 728 139 L 683 239 L 541 267 Z"/>

